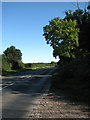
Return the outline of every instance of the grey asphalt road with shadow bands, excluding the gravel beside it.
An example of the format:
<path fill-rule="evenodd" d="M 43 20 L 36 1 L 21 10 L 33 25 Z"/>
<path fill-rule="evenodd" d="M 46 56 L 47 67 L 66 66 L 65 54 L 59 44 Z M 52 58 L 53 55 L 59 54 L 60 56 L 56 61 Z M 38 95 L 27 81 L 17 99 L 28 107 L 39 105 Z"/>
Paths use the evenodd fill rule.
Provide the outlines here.
<path fill-rule="evenodd" d="M 30 70 L 2 78 L 2 118 L 29 118 L 50 88 L 55 68 Z"/>

